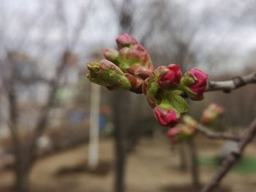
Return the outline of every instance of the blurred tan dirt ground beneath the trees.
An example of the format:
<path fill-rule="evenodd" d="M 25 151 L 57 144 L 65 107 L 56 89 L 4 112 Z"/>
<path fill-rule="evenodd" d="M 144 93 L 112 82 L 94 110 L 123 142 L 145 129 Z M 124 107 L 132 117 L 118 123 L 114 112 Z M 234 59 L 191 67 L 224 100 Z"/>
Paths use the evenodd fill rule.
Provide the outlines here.
<path fill-rule="evenodd" d="M 198 139 L 197 139 L 198 140 Z M 197 142 L 199 155 L 211 156 L 217 153 L 222 142 L 203 140 Z M 255 154 L 255 145 L 246 150 L 246 154 Z M 88 145 L 81 145 L 48 158 L 39 160 L 31 172 L 32 192 L 109 192 L 113 191 L 113 169 L 105 175 L 89 173 L 65 174 L 56 176 L 59 169 L 74 166 L 86 161 Z M 104 139 L 99 145 L 101 161 L 108 161 L 113 167 L 113 141 Z M 255 162 L 256 163 L 256 162 Z M 187 172 L 179 171 L 178 150 L 171 149 L 165 138 L 142 139 L 135 152 L 129 154 L 127 160 L 126 187 L 127 192 L 167 192 L 178 191 L 189 185 Z M 206 183 L 215 170 L 200 166 L 200 180 Z M 12 185 L 12 172 L 0 173 L 0 191 L 7 192 Z M 256 191 L 256 173 L 238 174 L 230 172 L 222 182 L 222 186 L 233 192 Z"/>

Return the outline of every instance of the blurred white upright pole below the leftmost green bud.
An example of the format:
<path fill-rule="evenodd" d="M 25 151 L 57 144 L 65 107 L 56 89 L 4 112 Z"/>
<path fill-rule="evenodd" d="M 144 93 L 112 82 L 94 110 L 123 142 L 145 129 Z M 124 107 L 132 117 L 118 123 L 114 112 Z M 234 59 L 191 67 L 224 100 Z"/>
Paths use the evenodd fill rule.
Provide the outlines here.
<path fill-rule="evenodd" d="M 91 83 L 91 112 L 89 133 L 89 167 L 94 169 L 99 162 L 99 104 L 100 86 Z"/>

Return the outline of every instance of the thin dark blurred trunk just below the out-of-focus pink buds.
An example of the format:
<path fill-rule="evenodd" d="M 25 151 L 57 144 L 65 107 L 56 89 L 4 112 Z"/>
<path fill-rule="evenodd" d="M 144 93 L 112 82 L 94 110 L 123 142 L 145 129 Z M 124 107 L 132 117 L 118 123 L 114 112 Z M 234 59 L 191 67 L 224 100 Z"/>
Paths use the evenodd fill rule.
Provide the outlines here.
<path fill-rule="evenodd" d="M 189 161 L 190 161 L 190 174 L 191 174 L 191 181 L 192 186 L 197 188 L 200 186 L 200 180 L 199 180 L 199 170 L 198 170 L 198 164 L 197 164 L 197 150 L 195 146 L 194 138 L 190 138 L 187 140 L 187 145 L 189 147 Z"/>

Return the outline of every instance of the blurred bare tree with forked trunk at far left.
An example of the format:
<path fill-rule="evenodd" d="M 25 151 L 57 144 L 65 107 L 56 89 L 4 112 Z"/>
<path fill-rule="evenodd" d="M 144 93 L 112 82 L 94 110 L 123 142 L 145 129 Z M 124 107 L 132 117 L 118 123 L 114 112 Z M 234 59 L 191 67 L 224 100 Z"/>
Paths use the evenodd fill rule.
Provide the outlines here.
<path fill-rule="evenodd" d="M 31 168 L 37 160 L 37 140 L 47 127 L 48 114 L 55 102 L 56 91 L 59 88 L 59 80 L 61 74 L 62 72 L 64 72 L 64 68 L 73 61 L 72 52 L 80 39 L 80 31 L 85 27 L 87 18 L 86 15 L 91 8 L 90 4 L 81 7 L 80 17 L 78 17 L 78 21 L 75 24 L 75 27 L 71 28 L 75 32 L 72 33 L 73 35 L 71 37 L 69 36 L 69 38 L 67 38 L 68 21 L 66 19 L 68 15 L 65 11 L 65 4 L 63 1 L 53 1 L 50 4 L 53 4 L 55 9 L 53 12 L 50 12 L 50 14 L 48 13 L 48 15 L 44 17 L 42 26 L 39 26 L 38 14 L 42 14 L 42 12 L 44 12 L 44 9 L 47 8 L 45 7 L 45 4 L 39 4 L 38 12 L 35 12 L 35 15 L 30 15 L 29 19 L 26 18 L 26 16 L 20 17 L 20 15 L 18 14 L 15 15 L 16 17 L 18 16 L 19 22 L 22 23 L 22 25 L 20 25 L 19 28 L 20 36 L 18 37 L 18 39 L 16 39 L 16 42 L 14 44 L 8 42 L 7 38 L 4 39 L 4 34 L 7 33 L 9 29 L 7 23 L 5 25 L 6 28 L 4 28 L 5 31 L 1 31 L 1 40 L 2 44 L 4 45 L 2 46 L 3 49 L 1 50 L 1 53 L 7 55 L 6 60 L 1 62 L 1 84 L 3 86 L 2 89 L 7 95 L 7 99 L 9 101 L 9 120 L 7 120 L 7 122 L 10 127 L 13 153 L 15 156 L 15 191 L 18 192 L 29 191 L 29 173 L 31 172 Z M 2 14 L 4 15 L 4 13 Z M 1 22 L 4 23 L 3 20 L 1 20 Z M 46 28 L 46 31 L 50 31 L 54 26 L 53 23 L 55 22 L 59 23 L 59 26 L 61 28 L 61 38 L 63 38 L 60 44 L 62 48 L 59 58 L 61 59 L 59 61 L 59 64 L 57 64 L 53 78 L 51 80 L 47 80 L 45 79 L 45 77 L 43 77 L 43 71 L 31 68 L 26 70 L 21 65 L 24 58 L 26 58 L 26 56 L 24 56 L 22 52 L 24 50 L 28 50 L 27 43 L 30 39 L 27 33 L 34 30 L 34 28 L 36 27 L 42 27 L 42 30 L 44 31 L 45 23 L 48 23 L 48 28 Z M 26 31 L 26 33 L 24 31 Z M 45 37 L 42 37 L 41 41 L 37 42 L 37 45 L 35 45 L 35 47 L 41 50 L 39 53 L 43 55 L 43 51 L 45 51 L 47 47 L 46 45 L 47 43 L 45 43 Z M 20 85 L 34 85 L 37 82 L 47 83 L 48 98 L 39 112 L 39 118 L 37 119 L 37 122 L 35 123 L 31 134 L 24 138 L 20 134 L 19 127 L 20 111 L 17 89 L 20 87 Z"/>

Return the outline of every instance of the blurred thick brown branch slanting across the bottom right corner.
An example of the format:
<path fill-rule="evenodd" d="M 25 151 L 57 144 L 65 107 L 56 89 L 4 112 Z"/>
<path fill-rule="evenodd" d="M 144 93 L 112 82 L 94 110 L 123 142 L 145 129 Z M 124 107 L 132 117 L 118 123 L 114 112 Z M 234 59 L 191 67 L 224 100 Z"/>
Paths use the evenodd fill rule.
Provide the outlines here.
<path fill-rule="evenodd" d="M 230 170 L 230 168 L 238 161 L 238 159 L 241 157 L 242 153 L 244 152 L 244 148 L 246 145 L 249 144 L 249 142 L 252 142 L 252 139 L 255 138 L 256 135 L 256 118 L 253 120 L 249 128 L 247 129 L 246 133 L 244 134 L 244 137 L 241 139 L 240 142 L 238 142 L 238 149 L 236 151 L 233 151 L 230 153 L 230 155 L 227 156 L 225 159 L 222 168 L 219 170 L 219 172 L 214 176 L 214 178 L 211 180 L 210 183 L 208 183 L 201 192 L 210 192 L 214 190 L 214 188 L 219 185 L 220 181 L 223 177 L 227 174 L 227 172 Z"/>

